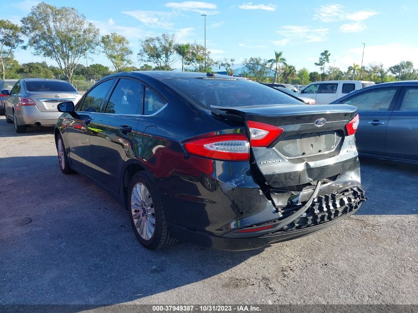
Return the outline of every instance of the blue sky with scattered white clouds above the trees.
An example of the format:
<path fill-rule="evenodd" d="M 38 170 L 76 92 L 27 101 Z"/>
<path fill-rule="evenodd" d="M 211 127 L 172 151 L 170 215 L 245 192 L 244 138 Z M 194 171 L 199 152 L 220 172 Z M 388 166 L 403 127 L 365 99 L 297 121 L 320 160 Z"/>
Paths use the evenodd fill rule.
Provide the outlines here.
<path fill-rule="evenodd" d="M 32 5 L 40 1 L 1 0 L 0 18 L 20 24 Z M 55 6 L 73 6 L 100 29 L 102 34 L 117 32 L 131 41 L 134 63 L 140 62 L 139 40 L 161 33 L 176 34 L 179 42 L 203 45 L 206 18 L 206 47 L 212 58 L 235 58 L 235 63 L 251 56 L 270 59 L 283 51 L 297 69 L 314 65 L 322 51 L 329 50 L 330 65 L 346 69 L 361 63 L 383 63 L 389 67 L 411 60 L 418 67 L 416 17 L 418 1 L 160 1 L 160 0 L 46 0 Z M 7 9 L 5 4 L 8 4 Z M 10 4 L 11 3 L 11 4 Z M 18 50 L 20 63 L 42 61 L 31 51 Z M 52 60 L 45 59 L 48 64 Z M 90 55 L 83 64 L 110 62 L 101 55 Z M 177 62 L 176 67 L 181 67 Z"/>

